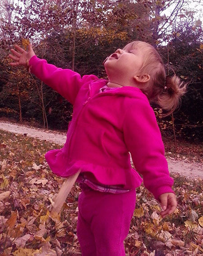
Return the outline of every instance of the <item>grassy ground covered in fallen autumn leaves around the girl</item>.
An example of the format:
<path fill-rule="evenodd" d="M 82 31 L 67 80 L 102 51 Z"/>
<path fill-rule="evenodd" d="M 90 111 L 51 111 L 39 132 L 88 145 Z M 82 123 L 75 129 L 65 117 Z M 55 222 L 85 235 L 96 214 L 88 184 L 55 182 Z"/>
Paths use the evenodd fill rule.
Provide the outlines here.
<path fill-rule="evenodd" d="M 76 234 L 78 185 L 53 221 L 49 212 L 63 179 L 44 154 L 59 145 L 0 130 L 0 255 L 80 256 Z M 203 256 L 203 182 L 171 175 L 178 207 L 162 219 L 143 184 L 125 239 L 127 256 Z"/>

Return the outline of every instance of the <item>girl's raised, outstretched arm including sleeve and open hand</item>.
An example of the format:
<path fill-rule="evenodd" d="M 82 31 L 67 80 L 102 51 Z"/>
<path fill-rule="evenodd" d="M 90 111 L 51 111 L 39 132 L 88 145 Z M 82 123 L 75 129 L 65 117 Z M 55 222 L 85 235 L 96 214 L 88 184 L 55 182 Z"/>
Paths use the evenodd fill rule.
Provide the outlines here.
<path fill-rule="evenodd" d="M 81 76 L 69 69 L 58 68 L 54 65 L 47 64 L 46 60 L 39 59 L 32 50 L 32 45 L 28 47 L 28 52 L 21 47 L 16 46 L 18 52 L 12 49 L 15 56 L 9 55 L 15 62 L 10 63 L 12 66 L 27 66 L 30 71 L 42 80 L 46 85 L 57 91 L 71 104 L 78 94 L 80 87 L 88 81 L 97 79 L 96 76 Z"/>

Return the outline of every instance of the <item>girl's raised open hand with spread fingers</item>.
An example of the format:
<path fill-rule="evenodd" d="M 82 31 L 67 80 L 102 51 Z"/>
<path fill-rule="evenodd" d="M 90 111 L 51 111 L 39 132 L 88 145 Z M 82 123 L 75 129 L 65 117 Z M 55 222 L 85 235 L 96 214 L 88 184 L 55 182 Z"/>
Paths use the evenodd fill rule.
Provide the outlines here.
<path fill-rule="evenodd" d="M 11 49 L 11 52 L 14 55 L 9 54 L 9 57 L 13 59 L 15 62 L 11 62 L 11 66 L 29 66 L 29 60 L 32 58 L 32 56 L 35 55 L 34 51 L 32 50 L 32 44 L 28 45 L 28 52 L 23 50 L 23 48 L 19 47 L 18 45 L 15 45 L 15 49 L 18 50 L 16 52 L 14 49 Z"/>

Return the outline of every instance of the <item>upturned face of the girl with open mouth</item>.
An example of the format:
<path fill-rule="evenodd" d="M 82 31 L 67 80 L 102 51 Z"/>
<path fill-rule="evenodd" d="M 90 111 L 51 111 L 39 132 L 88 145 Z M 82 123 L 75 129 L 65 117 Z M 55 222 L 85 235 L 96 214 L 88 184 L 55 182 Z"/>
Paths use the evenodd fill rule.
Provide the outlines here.
<path fill-rule="evenodd" d="M 133 78 L 139 75 L 143 59 L 144 52 L 139 48 L 131 50 L 118 49 L 106 58 L 104 66 L 108 76 L 117 74 Z"/>

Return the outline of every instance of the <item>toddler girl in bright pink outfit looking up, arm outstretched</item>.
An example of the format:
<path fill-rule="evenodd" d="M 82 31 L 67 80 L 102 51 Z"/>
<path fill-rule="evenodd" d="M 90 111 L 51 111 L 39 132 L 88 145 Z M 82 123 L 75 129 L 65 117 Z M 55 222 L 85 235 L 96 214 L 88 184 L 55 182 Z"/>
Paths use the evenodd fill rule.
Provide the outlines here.
<path fill-rule="evenodd" d="M 77 235 L 83 256 L 124 256 L 142 183 L 161 203 L 162 218 L 175 211 L 164 145 L 149 102 L 174 111 L 185 92 L 179 78 L 167 77 L 158 52 L 135 41 L 104 61 L 108 80 L 81 77 L 39 59 L 28 47 L 11 49 L 12 66 L 27 66 L 40 80 L 73 104 L 67 140 L 46 153 L 51 170 L 61 177 L 81 173 L 78 182 Z M 131 167 L 131 153 L 136 171 Z M 140 175 L 143 175 L 143 179 Z"/>

